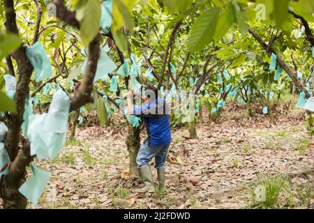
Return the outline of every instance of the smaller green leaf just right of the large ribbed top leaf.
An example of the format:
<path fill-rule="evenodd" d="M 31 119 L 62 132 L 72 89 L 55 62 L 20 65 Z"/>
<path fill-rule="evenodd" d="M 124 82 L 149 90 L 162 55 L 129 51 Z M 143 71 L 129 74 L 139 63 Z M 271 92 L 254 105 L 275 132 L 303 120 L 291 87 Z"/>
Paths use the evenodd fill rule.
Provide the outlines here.
<path fill-rule="evenodd" d="M 235 14 L 234 14 L 234 7 L 232 3 L 227 4 L 223 13 L 219 16 L 218 23 L 216 26 L 216 31 L 214 35 L 214 40 L 217 42 L 225 34 L 229 31 L 230 27 L 234 23 Z"/>

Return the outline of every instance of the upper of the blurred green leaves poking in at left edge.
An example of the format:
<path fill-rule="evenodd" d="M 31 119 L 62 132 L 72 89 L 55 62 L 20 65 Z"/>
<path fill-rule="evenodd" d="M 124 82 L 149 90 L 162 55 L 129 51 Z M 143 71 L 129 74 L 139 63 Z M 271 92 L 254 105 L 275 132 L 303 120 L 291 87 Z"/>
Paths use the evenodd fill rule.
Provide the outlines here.
<path fill-rule="evenodd" d="M 0 34 L 0 60 L 8 55 L 10 51 L 13 51 L 20 47 L 22 40 L 15 34 Z"/>

